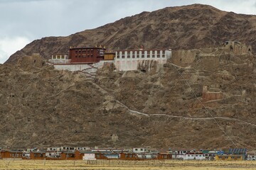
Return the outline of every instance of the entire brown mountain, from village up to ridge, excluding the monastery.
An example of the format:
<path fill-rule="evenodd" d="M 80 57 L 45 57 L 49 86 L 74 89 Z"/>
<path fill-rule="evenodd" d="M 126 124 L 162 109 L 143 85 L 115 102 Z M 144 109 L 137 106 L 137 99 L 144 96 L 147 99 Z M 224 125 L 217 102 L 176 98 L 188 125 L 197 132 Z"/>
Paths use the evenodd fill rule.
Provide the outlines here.
<path fill-rule="evenodd" d="M 255 149 L 256 57 L 215 47 L 233 39 L 253 51 L 254 19 L 196 4 L 31 42 L 0 64 L 0 147 Z M 175 50 L 162 66 L 119 72 L 110 64 L 94 79 L 44 60 L 95 44 Z"/>

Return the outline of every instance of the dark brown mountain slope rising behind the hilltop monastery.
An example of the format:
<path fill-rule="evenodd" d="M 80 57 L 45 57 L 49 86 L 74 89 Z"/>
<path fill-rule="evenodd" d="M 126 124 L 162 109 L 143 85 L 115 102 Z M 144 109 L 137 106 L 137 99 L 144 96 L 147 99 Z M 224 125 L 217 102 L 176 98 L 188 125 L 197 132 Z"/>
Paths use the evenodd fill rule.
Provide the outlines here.
<path fill-rule="evenodd" d="M 122 18 L 68 37 L 34 40 L 11 55 L 7 62 L 32 53 L 49 58 L 55 53 L 67 53 L 70 46 L 106 45 L 116 50 L 137 49 L 143 45 L 176 50 L 218 46 L 225 40 L 238 40 L 256 48 L 256 16 L 228 13 L 201 4 L 169 7 Z"/>

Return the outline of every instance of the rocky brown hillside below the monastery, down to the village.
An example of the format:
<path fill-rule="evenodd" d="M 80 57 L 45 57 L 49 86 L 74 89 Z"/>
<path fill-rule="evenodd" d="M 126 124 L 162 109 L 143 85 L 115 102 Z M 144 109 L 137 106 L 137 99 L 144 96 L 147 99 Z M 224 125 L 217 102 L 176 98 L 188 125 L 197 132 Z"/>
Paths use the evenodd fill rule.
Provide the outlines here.
<path fill-rule="evenodd" d="M 132 72 L 107 65 L 95 79 L 23 57 L 0 65 L 0 146 L 255 149 L 255 71 L 252 55 L 215 48 Z M 222 96 L 207 100 L 203 86 Z"/>

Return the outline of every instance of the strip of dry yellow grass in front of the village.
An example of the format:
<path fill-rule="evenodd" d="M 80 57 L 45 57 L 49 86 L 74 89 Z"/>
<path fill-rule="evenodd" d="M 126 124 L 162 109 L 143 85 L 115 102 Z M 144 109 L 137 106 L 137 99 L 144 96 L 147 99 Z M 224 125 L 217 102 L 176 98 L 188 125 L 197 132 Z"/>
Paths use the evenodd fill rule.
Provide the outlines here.
<path fill-rule="evenodd" d="M 224 161 L 45 161 L 45 160 L 0 160 L 0 169 L 175 169 L 175 170 L 248 170 L 256 169 L 256 162 Z"/>

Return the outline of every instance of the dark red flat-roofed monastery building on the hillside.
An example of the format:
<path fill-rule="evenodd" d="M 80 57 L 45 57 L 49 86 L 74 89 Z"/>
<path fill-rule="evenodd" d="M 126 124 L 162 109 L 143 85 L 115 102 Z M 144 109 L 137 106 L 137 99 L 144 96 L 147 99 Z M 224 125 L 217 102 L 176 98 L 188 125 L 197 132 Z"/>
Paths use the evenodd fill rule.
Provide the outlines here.
<path fill-rule="evenodd" d="M 104 60 L 106 49 L 103 47 L 70 47 L 71 63 L 95 63 Z"/>

